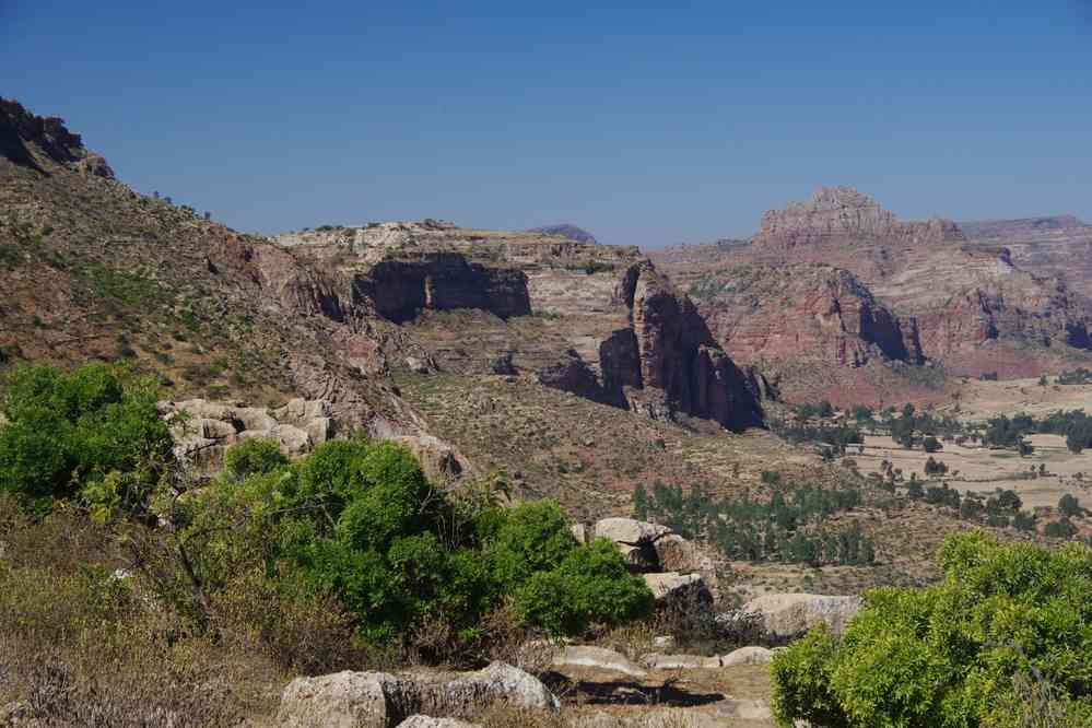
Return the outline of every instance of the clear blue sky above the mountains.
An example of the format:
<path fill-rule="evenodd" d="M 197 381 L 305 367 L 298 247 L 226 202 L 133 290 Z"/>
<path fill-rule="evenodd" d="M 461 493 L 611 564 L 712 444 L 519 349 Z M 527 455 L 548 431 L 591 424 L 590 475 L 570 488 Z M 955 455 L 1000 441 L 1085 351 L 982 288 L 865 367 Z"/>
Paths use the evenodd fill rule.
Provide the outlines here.
<path fill-rule="evenodd" d="M 657 246 L 747 235 L 819 184 L 904 218 L 1092 220 L 1090 0 L 0 0 L 0 95 L 260 232 L 568 221 Z"/>

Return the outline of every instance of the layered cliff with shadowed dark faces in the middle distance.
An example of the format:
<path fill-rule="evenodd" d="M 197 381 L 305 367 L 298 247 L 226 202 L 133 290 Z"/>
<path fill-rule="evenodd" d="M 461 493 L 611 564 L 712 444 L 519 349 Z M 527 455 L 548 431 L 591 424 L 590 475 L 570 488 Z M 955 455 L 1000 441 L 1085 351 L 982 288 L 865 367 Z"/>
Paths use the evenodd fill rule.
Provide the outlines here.
<path fill-rule="evenodd" d="M 356 302 L 396 325 L 392 361 L 477 376 L 503 359 L 516 376 L 657 419 L 762 424 L 758 379 L 636 248 L 436 221 L 279 239 L 334 266 Z"/>

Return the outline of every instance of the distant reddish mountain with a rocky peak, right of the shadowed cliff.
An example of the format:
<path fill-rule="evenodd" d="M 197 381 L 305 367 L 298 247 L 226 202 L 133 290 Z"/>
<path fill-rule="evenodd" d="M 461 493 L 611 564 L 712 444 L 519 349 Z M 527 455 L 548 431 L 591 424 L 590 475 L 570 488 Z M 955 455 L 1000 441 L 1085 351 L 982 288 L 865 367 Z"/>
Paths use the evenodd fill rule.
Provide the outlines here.
<path fill-rule="evenodd" d="M 952 374 L 1037 375 L 1092 349 L 1092 302 L 1080 291 L 1029 270 L 1005 247 L 968 240 L 952 221 L 901 221 L 850 187 L 821 187 L 809 200 L 766 212 L 749 245 L 706 247 L 704 254 L 668 249 L 653 259 L 673 279 L 690 281 L 711 321 L 727 321 L 714 322 L 713 330 L 744 362 L 761 355 L 783 365 L 796 354 L 848 368 L 877 359 L 917 364 L 917 356 L 902 356 L 891 347 L 866 356 L 877 344 L 861 333 L 867 327 L 846 322 L 841 314 L 834 324 L 827 320 L 822 312 L 842 305 L 842 297 L 830 292 L 850 280 L 838 271 L 853 281 L 841 290 L 857 292 L 850 308 L 869 302 L 869 315 L 899 321 L 900 336 L 916 342 L 907 352 L 918 347 L 921 361 Z M 786 271 L 789 280 L 784 280 Z M 701 295 L 703 289 L 732 293 L 708 298 Z M 779 294 L 788 291 L 796 304 L 778 307 Z M 825 303 L 814 304 L 819 301 Z M 744 320 L 765 333 L 743 341 L 765 343 L 740 340 L 739 321 Z M 801 328 L 811 333 L 802 334 Z M 800 342 L 796 352 L 794 341 Z M 845 354 L 832 359 L 829 352 Z M 864 374 L 824 376 L 845 380 L 832 386 L 848 397 Z"/>

